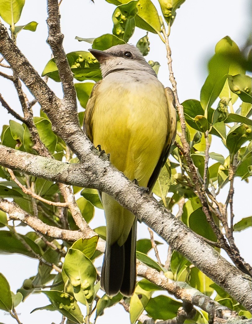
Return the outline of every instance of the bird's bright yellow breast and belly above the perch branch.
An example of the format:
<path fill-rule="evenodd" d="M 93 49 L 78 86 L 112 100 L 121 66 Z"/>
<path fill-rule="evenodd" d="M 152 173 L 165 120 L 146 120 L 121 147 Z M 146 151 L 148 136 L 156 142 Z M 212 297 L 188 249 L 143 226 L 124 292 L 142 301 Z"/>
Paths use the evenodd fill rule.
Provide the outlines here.
<path fill-rule="evenodd" d="M 141 79 L 106 76 L 97 89 L 92 114 L 93 142 L 110 154 L 111 163 L 146 187 L 167 135 L 163 85 L 150 74 Z M 125 82 L 125 79 L 128 82 Z"/>

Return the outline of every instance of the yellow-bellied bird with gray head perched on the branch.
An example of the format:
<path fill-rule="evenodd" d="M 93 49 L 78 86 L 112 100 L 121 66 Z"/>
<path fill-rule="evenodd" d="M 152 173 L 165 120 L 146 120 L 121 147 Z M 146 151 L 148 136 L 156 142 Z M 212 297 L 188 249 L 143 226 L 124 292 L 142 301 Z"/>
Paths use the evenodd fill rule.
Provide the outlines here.
<path fill-rule="evenodd" d="M 158 80 L 140 50 L 130 44 L 89 50 L 102 79 L 86 105 L 84 132 L 130 180 L 152 191 L 176 135 L 173 92 Z M 136 217 L 102 192 L 106 250 L 101 287 L 109 296 L 131 296 L 136 284 Z"/>

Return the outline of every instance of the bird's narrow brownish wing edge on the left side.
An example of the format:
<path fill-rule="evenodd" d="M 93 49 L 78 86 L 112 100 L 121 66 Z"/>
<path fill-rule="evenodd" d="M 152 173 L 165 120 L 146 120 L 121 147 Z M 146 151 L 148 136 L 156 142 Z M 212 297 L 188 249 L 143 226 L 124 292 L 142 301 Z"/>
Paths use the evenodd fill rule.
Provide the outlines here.
<path fill-rule="evenodd" d="M 93 143 L 93 123 L 92 123 L 92 114 L 93 114 L 93 110 L 95 107 L 95 101 L 96 101 L 96 94 L 97 93 L 97 89 L 100 85 L 100 83 L 102 82 L 102 80 L 98 81 L 92 91 L 91 91 L 91 95 L 88 99 L 88 102 L 86 104 L 86 111 L 85 111 L 85 116 L 84 116 L 84 123 L 83 123 L 83 131 L 84 133 L 86 133 L 86 136 L 90 139 L 90 141 Z"/>

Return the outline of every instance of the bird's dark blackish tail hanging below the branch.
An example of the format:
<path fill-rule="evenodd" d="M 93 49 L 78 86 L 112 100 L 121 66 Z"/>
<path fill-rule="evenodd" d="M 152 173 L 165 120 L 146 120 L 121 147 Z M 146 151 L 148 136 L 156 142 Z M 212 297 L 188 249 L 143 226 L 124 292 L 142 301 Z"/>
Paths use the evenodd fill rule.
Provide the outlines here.
<path fill-rule="evenodd" d="M 131 296 L 136 284 L 136 219 L 126 242 L 107 244 L 101 271 L 101 287 L 109 296 Z"/>

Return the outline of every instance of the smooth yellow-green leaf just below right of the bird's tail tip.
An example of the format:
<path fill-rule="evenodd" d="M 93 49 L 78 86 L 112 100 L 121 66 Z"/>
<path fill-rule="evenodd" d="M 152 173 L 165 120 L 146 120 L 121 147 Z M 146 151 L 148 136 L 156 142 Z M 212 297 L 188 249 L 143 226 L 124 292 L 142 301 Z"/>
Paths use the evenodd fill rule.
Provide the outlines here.
<path fill-rule="evenodd" d="M 136 285 L 134 294 L 131 297 L 130 301 L 130 321 L 135 323 L 139 316 L 143 313 L 144 307 L 147 305 L 149 299 L 151 298 L 152 291 L 146 291 Z"/>

